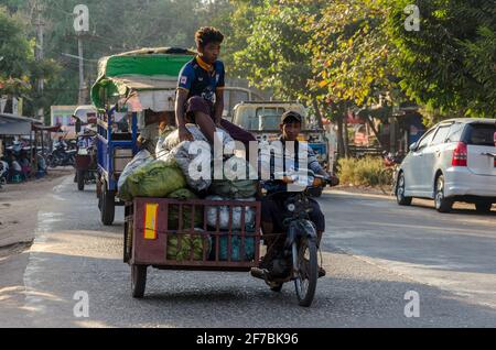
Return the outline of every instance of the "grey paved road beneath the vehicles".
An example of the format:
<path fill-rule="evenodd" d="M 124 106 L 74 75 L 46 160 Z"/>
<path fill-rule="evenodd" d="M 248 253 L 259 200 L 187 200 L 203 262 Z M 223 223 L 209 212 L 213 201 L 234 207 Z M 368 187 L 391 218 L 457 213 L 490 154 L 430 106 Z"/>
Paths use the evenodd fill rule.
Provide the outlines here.
<path fill-rule="evenodd" d="M 0 326 L 496 326 L 495 214 L 441 216 L 424 201 L 399 208 L 342 193 L 321 204 L 327 276 L 312 308 L 298 307 L 292 285 L 274 294 L 245 273 L 151 271 L 147 297 L 134 300 L 122 222 L 100 226 L 94 189 L 78 193 L 66 178 L 41 201 L 31 251 L 0 260 Z M 78 291 L 89 318 L 74 316 Z M 405 316 L 409 291 L 419 318 Z"/>

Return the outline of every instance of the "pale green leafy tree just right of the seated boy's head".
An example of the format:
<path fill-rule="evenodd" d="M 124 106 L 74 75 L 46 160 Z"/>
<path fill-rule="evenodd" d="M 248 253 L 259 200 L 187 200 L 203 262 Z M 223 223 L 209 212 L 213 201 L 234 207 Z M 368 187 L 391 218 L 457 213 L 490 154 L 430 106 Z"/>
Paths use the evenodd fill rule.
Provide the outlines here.
<path fill-rule="evenodd" d="M 321 1 L 265 1 L 251 8 L 254 21 L 244 50 L 234 54 L 238 73 L 256 87 L 273 89 L 284 99 L 311 101 L 308 83 L 313 77 L 308 17 L 317 12 Z"/>

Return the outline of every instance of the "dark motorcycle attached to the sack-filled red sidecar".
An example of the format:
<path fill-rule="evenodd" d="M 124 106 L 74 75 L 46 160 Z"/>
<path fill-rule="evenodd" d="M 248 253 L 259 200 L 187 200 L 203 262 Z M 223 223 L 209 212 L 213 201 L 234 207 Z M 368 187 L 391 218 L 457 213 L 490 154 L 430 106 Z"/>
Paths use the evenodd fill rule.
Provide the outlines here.
<path fill-rule="evenodd" d="M 309 307 L 315 296 L 319 278 L 317 232 L 310 220 L 312 210 L 310 198 L 321 193 L 326 185 L 336 186 L 336 177 L 316 175 L 309 171 L 310 186 L 302 186 L 301 192 L 274 193 L 269 196 L 283 196 L 287 218 L 282 225 L 287 233 L 283 250 L 277 252 L 272 260 L 272 269 L 251 269 L 251 275 L 263 280 L 273 292 L 280 292 L 283 284 L 294 281 L 300 306 Z M 298 182 L 294 175 L 285 176 L 287 184 Z"/>

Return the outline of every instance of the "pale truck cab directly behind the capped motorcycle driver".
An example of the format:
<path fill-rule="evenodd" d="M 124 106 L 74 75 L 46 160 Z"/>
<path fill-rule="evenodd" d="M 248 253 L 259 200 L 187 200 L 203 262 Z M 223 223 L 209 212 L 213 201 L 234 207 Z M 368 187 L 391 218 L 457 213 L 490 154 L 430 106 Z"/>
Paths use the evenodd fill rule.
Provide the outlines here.
<path fill-rule="evenodd" d="M 300 141 L 309 142 L 319 162 L 328 168 L 328 140 L 325 130 L 316 121 L 312 121 L 308 109 L 299 102 L 287 101 L 245 101 L 234 109 L 233 122 L 251 132 L 258 141 L 270 142 L 278 140 L 281 131 L 281 117 L 292 110 L 303 117 Z"/>

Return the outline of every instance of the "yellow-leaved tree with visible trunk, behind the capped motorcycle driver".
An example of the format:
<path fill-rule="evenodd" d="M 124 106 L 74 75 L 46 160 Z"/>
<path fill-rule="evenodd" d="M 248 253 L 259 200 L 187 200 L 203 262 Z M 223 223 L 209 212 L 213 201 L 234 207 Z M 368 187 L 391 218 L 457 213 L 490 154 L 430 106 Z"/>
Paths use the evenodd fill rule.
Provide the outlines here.
<path fill-rule="evenodd" d="M 386 14 L 379 1 L 334 0 L 311 17 L 305 26 L 311 33 L 306 47 L 312 53 L 315 76 L 309 87 L 330 107 L 338 127 L 341 155 L 348 154 L 343 124 L 349 109 L 359 108 L 360 116 L 373 125 L 373 118 L 387 120 L 388 116 L 373 114 L 370 106 L 401 99 L 389 63 L 392 47 L 385 35 Z"/>

